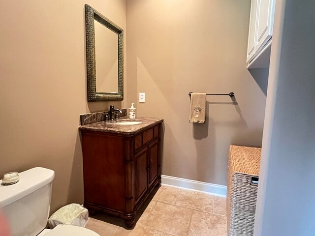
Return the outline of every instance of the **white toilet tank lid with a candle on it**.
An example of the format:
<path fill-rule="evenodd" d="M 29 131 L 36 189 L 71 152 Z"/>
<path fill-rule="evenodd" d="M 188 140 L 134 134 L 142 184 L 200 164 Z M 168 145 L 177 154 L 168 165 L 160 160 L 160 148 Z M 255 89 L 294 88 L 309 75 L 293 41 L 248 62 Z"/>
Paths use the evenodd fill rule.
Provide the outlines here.
<path fill-rule="evenodd" d="M 19 173 L 20 181 L 12 185 L 2 185 L 0 180 L 0 207 L 13 203 L 53 181 L 55 172 L 35 167 Z"/>

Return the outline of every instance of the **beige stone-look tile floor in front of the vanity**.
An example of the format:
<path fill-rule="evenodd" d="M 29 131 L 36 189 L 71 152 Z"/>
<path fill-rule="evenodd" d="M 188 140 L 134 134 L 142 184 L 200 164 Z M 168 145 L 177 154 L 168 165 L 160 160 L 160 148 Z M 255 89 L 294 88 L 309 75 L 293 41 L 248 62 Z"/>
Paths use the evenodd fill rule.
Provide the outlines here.
<path fill-rule="evenodd" d="M 149 200 L 150 201 L 150 200 Z M 149 202 L 148 201 L 148 202 Z M 226 236 L 225 198 L 161 186 L 132 230 L 96 215 L 86 228 L 100 236 Z M 101 220 L 99 220 L 101 219 Z"/>

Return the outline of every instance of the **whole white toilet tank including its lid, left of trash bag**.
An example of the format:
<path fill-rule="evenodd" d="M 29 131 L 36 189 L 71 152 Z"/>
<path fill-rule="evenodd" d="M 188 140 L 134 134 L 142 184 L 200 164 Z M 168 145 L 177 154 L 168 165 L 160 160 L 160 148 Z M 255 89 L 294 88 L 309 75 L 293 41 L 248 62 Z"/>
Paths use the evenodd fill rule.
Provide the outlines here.
<path fill-rule="evenodd" d="M 12 236 L 36 236 L 47 224 L 55 172 L 35 167 L 19 173 L 16 184 L 2 185 L 0 207 Z"/>

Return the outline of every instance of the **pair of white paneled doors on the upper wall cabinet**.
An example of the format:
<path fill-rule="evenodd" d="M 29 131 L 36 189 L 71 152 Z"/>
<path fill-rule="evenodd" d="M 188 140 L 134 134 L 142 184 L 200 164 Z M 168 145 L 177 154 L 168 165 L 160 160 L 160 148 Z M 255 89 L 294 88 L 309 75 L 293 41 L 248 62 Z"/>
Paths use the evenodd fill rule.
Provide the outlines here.
<path fill-rule="evenodd" d="M 247 62 L 251 61 L 272 36 L 275 0 L 252 0 L 247 48 Z"/>

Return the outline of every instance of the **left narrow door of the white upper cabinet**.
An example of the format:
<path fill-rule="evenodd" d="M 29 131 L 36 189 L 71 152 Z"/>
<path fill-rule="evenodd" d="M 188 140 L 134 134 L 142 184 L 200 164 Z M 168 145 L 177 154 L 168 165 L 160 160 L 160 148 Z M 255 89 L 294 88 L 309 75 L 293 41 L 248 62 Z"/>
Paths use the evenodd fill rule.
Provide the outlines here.
<path fill-rule="evenodd" d="M 256 29 L 256 17 L 257 17 L 257 1 L 258 0 L 252 0 L 252 4 L 251 4 L 250 29 L 248 32 L 246 62 L 249 62 L 255 54 L 255 29 Z"/>

